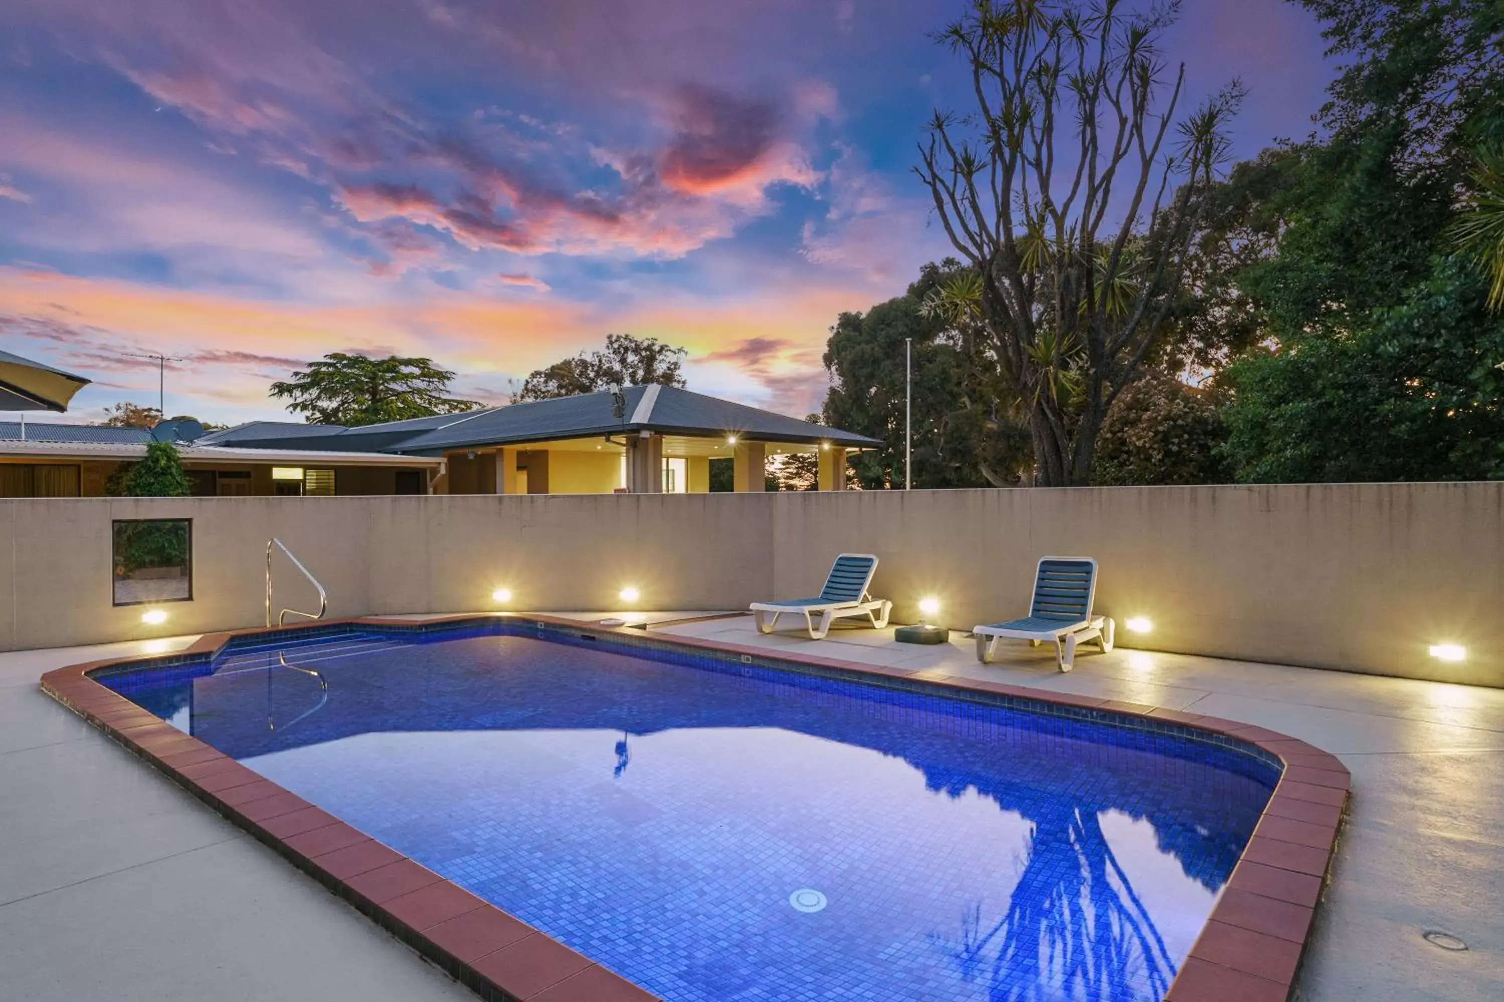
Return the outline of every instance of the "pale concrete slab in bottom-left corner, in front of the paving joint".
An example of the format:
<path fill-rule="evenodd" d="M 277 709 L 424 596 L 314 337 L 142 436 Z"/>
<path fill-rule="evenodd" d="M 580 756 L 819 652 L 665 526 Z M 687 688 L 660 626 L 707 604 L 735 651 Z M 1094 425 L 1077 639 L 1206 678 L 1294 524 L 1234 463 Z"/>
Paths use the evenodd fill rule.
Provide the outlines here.
<path fill-rule="evenodd" d="M 248 838 L 0 907 L 0 970 L 18 1000 L 475 999 Z"/>

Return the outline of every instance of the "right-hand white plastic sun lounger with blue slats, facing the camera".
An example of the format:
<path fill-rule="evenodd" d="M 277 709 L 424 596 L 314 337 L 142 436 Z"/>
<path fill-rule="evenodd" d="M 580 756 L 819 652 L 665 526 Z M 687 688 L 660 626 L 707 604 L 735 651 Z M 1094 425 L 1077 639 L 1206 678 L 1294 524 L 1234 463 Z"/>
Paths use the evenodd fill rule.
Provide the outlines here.
<path fill-rule="evenodd" d="M 1096 598 L 1096 560 L 1090 557 L 1044 557 L 1035 574 L 1029 614 L 1006 623 L 976 626 L 976 659 L 990 664 L 997 656 L 997 641 L 1005 637 L 1054 643 L 1054 659 L 1062 672 L 1075 667 L 1075 647 L 1095 640 L 1102 652 L 1113 649 L 1117 623 L 1108 616 L 1092 614 Z"/>

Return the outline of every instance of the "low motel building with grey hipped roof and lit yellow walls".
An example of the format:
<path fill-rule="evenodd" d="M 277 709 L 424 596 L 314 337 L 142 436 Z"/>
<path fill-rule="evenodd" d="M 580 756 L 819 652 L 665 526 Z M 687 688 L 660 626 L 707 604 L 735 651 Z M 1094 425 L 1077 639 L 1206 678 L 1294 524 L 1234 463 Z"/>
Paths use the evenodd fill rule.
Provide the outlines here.
<path fill-rule="evenodd" d="M 764 490 L 769 457 L 820 460 L 845 490 L 847 457 L 875 439 L 672 386 L 629 386 L 507 407 L 346 428 L 277 421 L 205 433 L 0 422 L 0 497 L 101 497 L 122 463 L 174 442 L 196 496 L 696 494 L 711 463 Z"/>

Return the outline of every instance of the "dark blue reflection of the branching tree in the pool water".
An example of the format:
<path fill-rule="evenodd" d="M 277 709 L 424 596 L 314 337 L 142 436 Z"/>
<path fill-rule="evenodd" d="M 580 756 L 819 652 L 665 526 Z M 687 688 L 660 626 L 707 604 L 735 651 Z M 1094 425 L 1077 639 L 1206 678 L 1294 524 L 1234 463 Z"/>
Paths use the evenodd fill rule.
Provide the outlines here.
<path fill-rule="evenodd" d="M 1176 972 L 1098 816 L 1078 808 L 1035 819 L 1008 912 L 984 930 L 967 909 L 943 946 L 990 1002 L 1158 1002 Z"/>

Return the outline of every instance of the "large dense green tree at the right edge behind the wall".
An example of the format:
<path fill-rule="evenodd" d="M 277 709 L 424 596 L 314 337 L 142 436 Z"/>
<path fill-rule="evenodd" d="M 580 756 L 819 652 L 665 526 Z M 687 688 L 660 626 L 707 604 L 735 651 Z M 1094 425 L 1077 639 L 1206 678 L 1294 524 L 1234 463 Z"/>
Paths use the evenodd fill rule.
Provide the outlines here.
<path fill-rule="evenodd" d="M 1265 158 L 1278 248 L 1238 281 L 1266 340 L 1224 374 L 1224 455 L 1254 482 L 1504 476 L 1504 318 L 1454 243 L 1504 129 L 1504 9 L 1305 6 L 1348 68 L 1327 135 Z"/>

